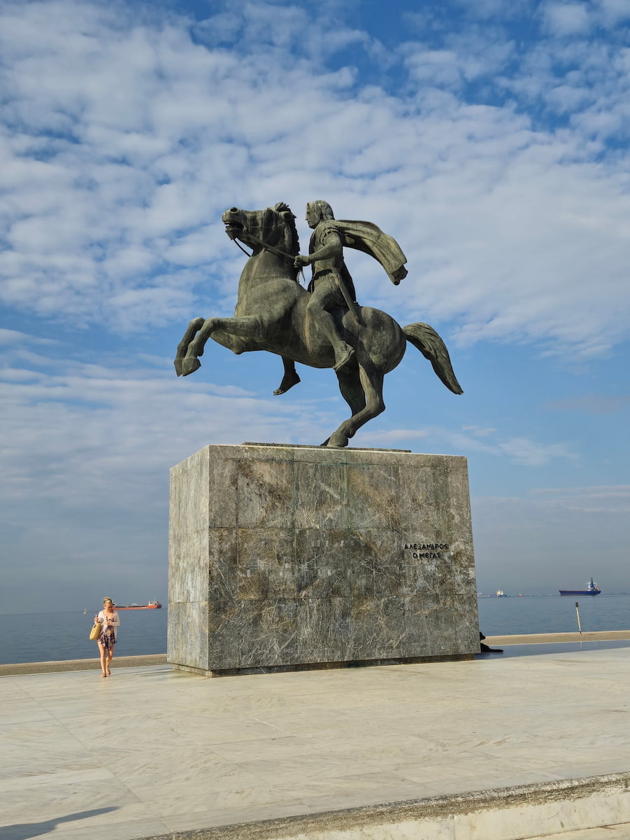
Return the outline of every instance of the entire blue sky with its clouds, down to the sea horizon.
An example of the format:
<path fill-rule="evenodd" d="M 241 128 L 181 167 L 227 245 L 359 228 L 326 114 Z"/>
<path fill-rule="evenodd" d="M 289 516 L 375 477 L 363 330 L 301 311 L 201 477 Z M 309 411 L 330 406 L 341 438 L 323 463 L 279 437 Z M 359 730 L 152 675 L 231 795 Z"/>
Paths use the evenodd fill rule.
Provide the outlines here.
<path fill-rule="evenodd" d="M 226 207 L 307 201 L 401 244 L 360 302 L 426 321 L 357 446 L 463 454 L 477 584 L 628 580 L 630 0 L 0 2 L 0 611 L 166 599 L 169 468 L 319 444 L 331 371 L 210 343 Z"/>

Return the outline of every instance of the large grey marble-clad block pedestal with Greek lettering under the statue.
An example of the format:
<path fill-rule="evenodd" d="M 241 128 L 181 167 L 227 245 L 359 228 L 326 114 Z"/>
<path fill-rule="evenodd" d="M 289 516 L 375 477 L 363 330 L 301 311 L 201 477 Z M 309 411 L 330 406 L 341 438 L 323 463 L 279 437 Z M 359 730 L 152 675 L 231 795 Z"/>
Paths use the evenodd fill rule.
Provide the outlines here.
<path fill-rule="evenodd" d="M 171 470 L 175 667 L 251 673 L 478 649 L 465 458 L 243 444 Z"/>

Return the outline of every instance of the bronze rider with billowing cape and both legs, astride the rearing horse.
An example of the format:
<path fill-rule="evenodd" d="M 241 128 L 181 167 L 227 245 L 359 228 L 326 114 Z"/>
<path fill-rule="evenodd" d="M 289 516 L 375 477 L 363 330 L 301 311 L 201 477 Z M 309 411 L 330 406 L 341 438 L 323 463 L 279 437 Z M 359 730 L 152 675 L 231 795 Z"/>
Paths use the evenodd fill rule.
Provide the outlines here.
<path fill-rule="evenodd" d="M 310 323 L 319 325 L 331 342 L 335 352 L 334 369 L 339 371 L 351 362 L 355 351 L 341 339 L 331 309 L 346 307 L 354 312 L 357 320 L 359 318 L 357 295 L 343 259 L 343 246 L 362 250 L 374 257 L 383 265 L 396 286 L 407 275 L 404 268 L 406 258 L 398 243 L 391 236 L 383 234 L 375 224 L 337 220 L 328 202 L 309 202 L 306 205 L 306 223 L 313 230 L 309 254 L 297 255 L 294 265 L 295 268 L 312 266 L 306 315 Z M 299 382 L 294 362 L 284 357 L 283 362 L 284 377 L 279 388 L 273 391 L 274 394 L 284 394 Z"/>

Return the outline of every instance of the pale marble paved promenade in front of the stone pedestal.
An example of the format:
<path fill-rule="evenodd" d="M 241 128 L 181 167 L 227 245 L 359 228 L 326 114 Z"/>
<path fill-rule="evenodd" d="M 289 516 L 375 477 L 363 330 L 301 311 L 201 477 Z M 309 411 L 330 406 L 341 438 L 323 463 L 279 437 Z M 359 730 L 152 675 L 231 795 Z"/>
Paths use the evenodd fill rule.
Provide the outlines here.
<path fill-rule="evenodd" d="M 608 800 L 576 831 L 563 787 L 603 776 L 602 790 L 625 795 L 629 712 L 630 648 L 214 680 L 165 664 L 107 679 L 97 669 L 2 676 L 0 837 L 485 840 L 489 829 L 458 832 L 456 820 L 379 833 L 370 815 L 431 803 L 455 813 L 483 791 L 508 801 L 501 791 L 513 786 L 531 801 L 537 786 L 565 791 L 552 809 L 565 807 L 562 840 L 630 837 L 628 825 L 597 828 L 623 822 Z M 318 815 L 331 811 L 339 830 L 325 833 Z M 282 822 L 302 816 L 293 833 Z M 544 814 L 522 819 L 519 836 L 544 834 L 534 830 Z M 277 832 L 242 825 L 268 820 Z"/>

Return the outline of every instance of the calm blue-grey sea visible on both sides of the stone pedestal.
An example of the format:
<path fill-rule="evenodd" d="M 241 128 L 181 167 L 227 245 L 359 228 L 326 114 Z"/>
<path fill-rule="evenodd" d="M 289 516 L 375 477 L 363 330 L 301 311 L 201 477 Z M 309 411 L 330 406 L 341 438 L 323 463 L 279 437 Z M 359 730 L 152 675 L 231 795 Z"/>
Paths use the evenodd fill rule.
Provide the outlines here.
<path fill-rule="evenodd" d="M 575 601 L 584 633 L 630 629 L 630 595 L 479 598 L 479 628 L 486 636 L 575 633 Z M 115 655 L 165 654 L 167 612 L 165 607 L 120 612 Z M 96 659 L 96 642 L 88 638 L 93 618 L 93 612 L 82 611 L 0 615 L 0 664 Z"/>

